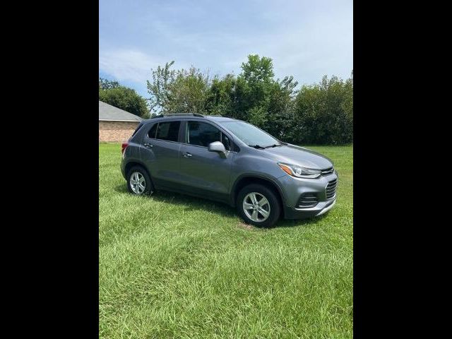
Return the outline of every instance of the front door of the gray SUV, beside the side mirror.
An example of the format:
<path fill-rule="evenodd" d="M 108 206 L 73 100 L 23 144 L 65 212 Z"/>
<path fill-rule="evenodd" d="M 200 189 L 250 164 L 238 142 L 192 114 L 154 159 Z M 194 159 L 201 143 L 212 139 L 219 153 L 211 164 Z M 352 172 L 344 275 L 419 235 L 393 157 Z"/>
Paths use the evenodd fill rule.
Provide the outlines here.
<path fill-rule="evenodd" d="M 224 158 L 218 153 L 209 152 L 208 145 L 213 141 L 221 141 L 228 150 L 231 148 L 231 138 L 213 124 L 199 120 L 187 120 L 183 133 L 184 144 L 180 148 L 182 182 L 198 189 L 198 193 L 208 191 L 215 196 L 227 194 L 234 153 L 228 151 Z"/>

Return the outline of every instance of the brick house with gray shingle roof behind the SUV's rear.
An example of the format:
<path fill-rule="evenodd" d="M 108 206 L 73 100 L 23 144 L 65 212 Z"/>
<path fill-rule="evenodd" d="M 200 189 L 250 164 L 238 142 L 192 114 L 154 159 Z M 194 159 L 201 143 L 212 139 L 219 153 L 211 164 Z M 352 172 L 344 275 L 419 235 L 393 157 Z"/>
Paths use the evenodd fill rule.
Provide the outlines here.
<path fill-rule="evenodd" d="M 99 142 L 121 142 L 130 138 L 142 119 L 99 100 Z"/>

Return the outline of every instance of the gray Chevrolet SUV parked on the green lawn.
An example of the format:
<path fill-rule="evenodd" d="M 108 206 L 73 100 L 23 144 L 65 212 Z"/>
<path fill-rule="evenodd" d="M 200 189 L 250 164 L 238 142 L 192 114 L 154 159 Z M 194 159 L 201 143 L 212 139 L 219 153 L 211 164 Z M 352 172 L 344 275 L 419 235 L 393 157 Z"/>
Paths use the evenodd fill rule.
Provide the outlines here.
<path fill-rule="evenodd" d="M 322 215 L 336 200 L 331 160 L 237 119 L 160 115 L 141 122 L 122 154 L 132 194 L 161 189 L 221 201 L 251 225 Z"/>

